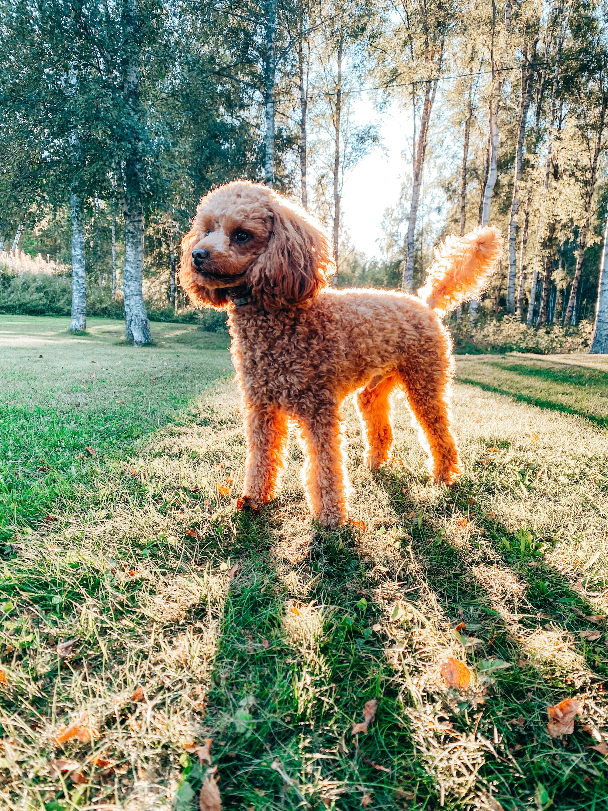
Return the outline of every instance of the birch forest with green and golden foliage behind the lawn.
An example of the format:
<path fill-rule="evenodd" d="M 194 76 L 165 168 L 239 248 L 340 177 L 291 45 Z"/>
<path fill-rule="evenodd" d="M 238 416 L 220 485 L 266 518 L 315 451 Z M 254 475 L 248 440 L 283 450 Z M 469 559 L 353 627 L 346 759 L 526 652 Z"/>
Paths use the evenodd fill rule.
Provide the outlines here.
<path fill-rule="evenodd" d="M 374 257 L 341 216 L 383 148 L 362 94 L 411 134 Z M 250 178 L 323 220 L 339 286 L 416 290 L 440 238 L 493 222 L 507 250 L 451 316 L 460 347 L 606 352 L 607 107 L 597 0 L 2 0 L 0 311 L 124 315 L 135 345 L 148 317 L 225 328 L 187 306 L 179 242 Z"/>

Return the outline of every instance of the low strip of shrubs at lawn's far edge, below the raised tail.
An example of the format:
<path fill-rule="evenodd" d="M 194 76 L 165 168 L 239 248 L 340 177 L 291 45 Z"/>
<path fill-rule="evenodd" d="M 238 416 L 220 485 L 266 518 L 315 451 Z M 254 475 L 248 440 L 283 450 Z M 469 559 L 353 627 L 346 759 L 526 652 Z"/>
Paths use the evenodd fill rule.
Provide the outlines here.
<path fill-rule="evenodd" d="M 485 352 L 529 352 L 560 354 L 584 352 L 593 337 L 593 321 L 581 321 L 577 327 L 547 324 L 535 329 L 522 323 L 515 315 L 502 320 L 487 321 L 471 328 L 470 324 L 449 324 L 456 352 L 479 354 Z"/>

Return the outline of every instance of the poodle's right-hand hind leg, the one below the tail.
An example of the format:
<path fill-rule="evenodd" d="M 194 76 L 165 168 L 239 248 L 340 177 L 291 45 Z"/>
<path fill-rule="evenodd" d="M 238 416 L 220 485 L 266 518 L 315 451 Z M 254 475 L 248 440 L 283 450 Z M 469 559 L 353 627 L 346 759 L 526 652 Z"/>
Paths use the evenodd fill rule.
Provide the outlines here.
<path fill-rule="evenodd" d="M 458 444 L 452 430 L 450 390 L 452 358 L 418 358 L 401 367 L 401 382 L 409 406 L 417 420 L 420 440 L 430 453 L 430 468 L 435 483 L 452 484 L 460 473 Z"/>

